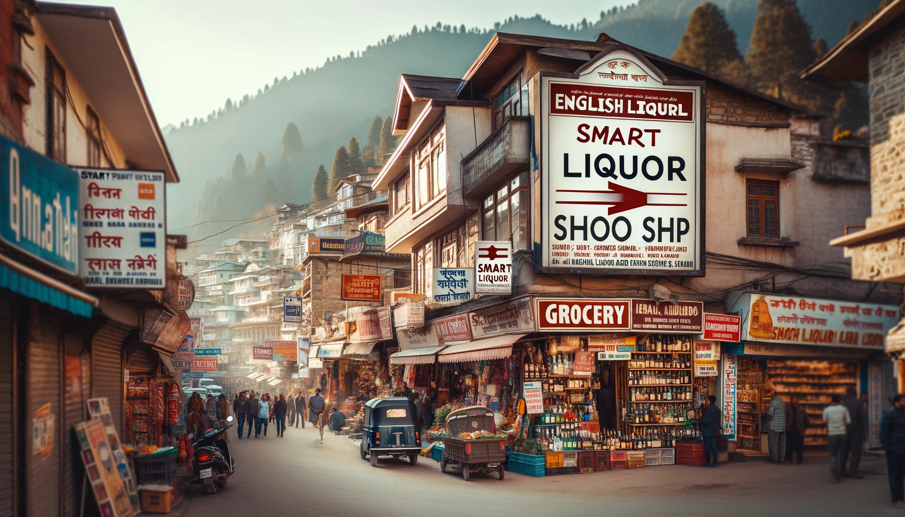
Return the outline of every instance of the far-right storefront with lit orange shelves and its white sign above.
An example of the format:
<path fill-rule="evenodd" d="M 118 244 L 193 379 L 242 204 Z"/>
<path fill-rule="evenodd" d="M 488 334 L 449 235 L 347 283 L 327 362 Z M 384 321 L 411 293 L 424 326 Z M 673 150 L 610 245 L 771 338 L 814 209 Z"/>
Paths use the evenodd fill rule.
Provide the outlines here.
<path fill-rule="evenodd" d="M 774 393 L 805 408 L 805 446 L 826 445 L 823 410 L 850 390 L 866 395 L 869 441 L 879 445 L 881 387 L 891 373 L 883 340 L 899 308 L 760 293 L 736 298 L 732 311 L 746 324 L 742 342 L 723 347 L 720 378 L 724 432 L 738 449 L 768 452 Z"/>

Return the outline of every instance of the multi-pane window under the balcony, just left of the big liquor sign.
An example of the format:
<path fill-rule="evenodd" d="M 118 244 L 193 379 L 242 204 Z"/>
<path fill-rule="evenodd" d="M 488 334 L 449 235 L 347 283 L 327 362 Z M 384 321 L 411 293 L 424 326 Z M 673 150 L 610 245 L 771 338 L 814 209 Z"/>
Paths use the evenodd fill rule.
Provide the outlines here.
<path fill-rule="evenodd" d="M 481 240 L 512 240 L 513 249 L 528 248 L 528 173 L 522 172 L 481 203 Z"/>

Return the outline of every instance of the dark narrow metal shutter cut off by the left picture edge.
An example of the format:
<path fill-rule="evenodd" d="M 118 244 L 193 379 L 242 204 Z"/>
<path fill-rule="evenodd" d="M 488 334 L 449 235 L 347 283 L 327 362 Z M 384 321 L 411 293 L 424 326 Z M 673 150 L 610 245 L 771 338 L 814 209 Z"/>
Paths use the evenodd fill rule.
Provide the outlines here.
<path fill-rule="evenodd" d="M 0 517 L 12 517 L 13 491 L 13 350 L 14 295 L 0 293 Z"/>

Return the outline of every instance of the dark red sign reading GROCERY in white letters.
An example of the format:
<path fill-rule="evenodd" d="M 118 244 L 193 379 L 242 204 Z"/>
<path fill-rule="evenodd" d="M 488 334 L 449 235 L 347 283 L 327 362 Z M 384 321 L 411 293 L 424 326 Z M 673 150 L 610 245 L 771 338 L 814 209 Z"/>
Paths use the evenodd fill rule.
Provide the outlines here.
<path fill-rule="evenodd" d="M 587 298 L 535 298 L 538 330 L 630 330 L 631 302 Z"/>

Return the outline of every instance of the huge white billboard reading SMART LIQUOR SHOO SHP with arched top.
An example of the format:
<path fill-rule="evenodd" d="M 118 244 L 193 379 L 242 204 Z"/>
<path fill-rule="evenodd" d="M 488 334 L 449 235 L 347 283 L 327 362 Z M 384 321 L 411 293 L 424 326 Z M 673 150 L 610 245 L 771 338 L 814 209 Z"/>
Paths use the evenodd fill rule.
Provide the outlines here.
<path fill-rule="evenodd" d="M 624 50 L 541 77 L 543 267 L 702 274 L 703 88 Z"/>

